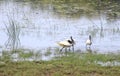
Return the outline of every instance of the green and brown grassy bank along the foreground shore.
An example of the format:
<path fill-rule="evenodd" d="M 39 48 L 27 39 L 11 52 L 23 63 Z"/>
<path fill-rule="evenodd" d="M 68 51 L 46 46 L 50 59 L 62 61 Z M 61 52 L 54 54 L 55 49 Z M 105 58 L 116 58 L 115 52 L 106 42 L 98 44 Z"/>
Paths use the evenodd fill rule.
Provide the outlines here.
<path fill-rule="evenodd" d="M 23 52 L 22 52 L 23 53 Z M 20 52 L 20 55 L 22 54 Z M 25 55 L 26 54 L 26 55 Z M 33 53 L 23 53 L 23 58 Z M 8 54 L 8 57 L 10 54 Z M 33 54 L 34 55 L 34 54 Z M 6 53 L 5 53 L 5 56 Z M 7 57 L 6 57 L 7 58 Z M 8 58 L 7 58 L 8 59 Z M 4 59 L 5 60 L 5 59 Z M 4 60 L 2 60 L 4 62 Z M 11 60 L 11 58 L 10 58 Z M 69 53 L 49 61 L 9 61 L 0 63 L 0 76 L 119 76 L 120 65 L 102 66 L 97 62 L 120 62 L 119 54 Z"/>

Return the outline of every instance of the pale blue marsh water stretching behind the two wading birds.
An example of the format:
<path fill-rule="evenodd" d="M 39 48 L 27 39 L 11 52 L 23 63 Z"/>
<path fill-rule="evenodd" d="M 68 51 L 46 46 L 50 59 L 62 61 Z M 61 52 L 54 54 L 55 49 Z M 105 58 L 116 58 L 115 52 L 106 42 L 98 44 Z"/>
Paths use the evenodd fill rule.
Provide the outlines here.
<path fill-rule="evenodd" d="M 76 41 L 75 50 L 86 51 L 85 41 L 91 34 L 92 50 L 100 53 L 120 51 L 119 12 L 114 18 L 106 13 L 75 13 L 74 9 L 65 10 L 68 8 L 65 4 L 58 4 L 63 5 L 64 10 L 56 5 L 44 1 L 0 1 L 0 50 L 6 49 L 9 37 L 5 24 L 9 26 L 8 18 L 12 18 L 20 26 L 19 48 L 61 48 L 57 42 L 73 36 Z M 82 7 L 86 8 L 84 5 Z M 78 6 L 75 8 L 78 9 Z"/>

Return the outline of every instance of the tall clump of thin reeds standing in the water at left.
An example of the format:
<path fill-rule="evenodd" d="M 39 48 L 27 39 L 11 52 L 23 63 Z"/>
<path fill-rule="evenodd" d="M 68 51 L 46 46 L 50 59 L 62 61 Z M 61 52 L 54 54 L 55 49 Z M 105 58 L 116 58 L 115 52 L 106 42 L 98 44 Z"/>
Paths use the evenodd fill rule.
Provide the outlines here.
<path fill-rule="evenodd" d="M 20 26 L 12 17 L 8 16 L 8 21 L 8 24 L 5 23 L 6 34 L 8 36 L 8 40 L 5 44 L 7 48 L 10 48 L 10 50 L 15 50 L 20 45 Z"/>

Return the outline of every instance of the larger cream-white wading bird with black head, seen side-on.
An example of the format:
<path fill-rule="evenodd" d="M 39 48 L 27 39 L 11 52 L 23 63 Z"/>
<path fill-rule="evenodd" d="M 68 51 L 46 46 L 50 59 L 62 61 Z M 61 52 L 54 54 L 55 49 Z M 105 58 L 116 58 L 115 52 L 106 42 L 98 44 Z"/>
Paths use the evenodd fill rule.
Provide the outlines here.
<path fill-rule="evenodd" d="M 75 41 L 73 40 L 72 36 L 70 36 L 70 39 L 64 40 L 64 41 L 60 41 L 58 42 L 59 46 L 62 46 L 62 48 L 60 49 L 60 52 L 64 49 L 64 48 L 68 48 L 70 50 L 70 47 L 72 46 L 73 51 L 74 51 L 74 44 Z"/>

